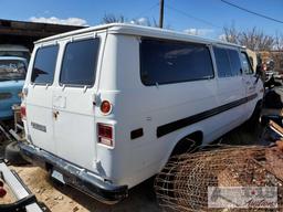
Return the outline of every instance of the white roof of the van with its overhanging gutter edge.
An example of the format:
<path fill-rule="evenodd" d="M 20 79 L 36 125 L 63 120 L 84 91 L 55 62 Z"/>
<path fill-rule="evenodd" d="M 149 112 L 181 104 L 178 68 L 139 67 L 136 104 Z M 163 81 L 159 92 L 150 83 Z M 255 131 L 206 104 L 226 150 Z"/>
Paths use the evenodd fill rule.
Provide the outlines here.
<path fill-rule="evenodd" d="M 71 31 L 71 32 L 66 32 L 66 33 L 39 40 L 34 42 L 34 44 L 54 41 L 54 40 L 59 40 L 67 36 L 78 35 L 81 33 L 101 31 L 101 30 L 107 30 L 109 33 L 154 36 L 154 38 L 163 38 L 163 39 L 169 39 L 169 40 L 185 40 L 185 41 L 188 40 L 188 41 L 195 41 L 200 43 L 224 44 L 224 45 L 243 47 L 241 45 L 237 45 L 233 43 L 212 40 L 212 39 L 205 39 L 197 35 L 189 35 L 187 33 L 177 32 L 172 30 L 128 24 L 128 23 L 109 23 L 109 24 L 102 24 L 102 25 L 91 26 L 86 29 L 75 30 L 75 31 Z"/>

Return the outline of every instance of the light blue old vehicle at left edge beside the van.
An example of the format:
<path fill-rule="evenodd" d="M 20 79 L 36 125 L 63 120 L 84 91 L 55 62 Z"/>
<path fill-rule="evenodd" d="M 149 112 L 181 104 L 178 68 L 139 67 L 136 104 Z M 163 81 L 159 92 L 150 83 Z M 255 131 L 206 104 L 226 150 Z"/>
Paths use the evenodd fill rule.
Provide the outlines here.
<path fill-rule="evenodd" d="M 21 104 L 27 66 L 25 59 L 0 56 L 0 120 L 12 118 L 12 105 Z"/>

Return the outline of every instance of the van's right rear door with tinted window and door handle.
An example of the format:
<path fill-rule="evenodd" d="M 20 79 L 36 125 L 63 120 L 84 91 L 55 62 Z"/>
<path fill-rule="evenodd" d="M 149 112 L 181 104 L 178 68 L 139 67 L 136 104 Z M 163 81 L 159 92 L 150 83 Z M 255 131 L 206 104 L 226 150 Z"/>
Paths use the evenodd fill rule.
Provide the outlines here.
<path fill-rule="evenodd" d="M 103 36 L 74 39 L 63 44 L 57 85 L 52 93 L 57 156 L 93 169 L 96 160 L 95 94 Z"/>

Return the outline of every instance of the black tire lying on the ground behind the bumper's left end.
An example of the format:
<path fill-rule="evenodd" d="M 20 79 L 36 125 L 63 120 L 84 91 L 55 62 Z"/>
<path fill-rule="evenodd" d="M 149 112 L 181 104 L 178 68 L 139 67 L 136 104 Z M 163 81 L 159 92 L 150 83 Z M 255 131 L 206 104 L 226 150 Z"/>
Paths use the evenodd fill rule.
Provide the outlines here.
<path fill-rule="evenodd" d="M 17 141 L 13 141 L 13 142 L 9 144 L 6 147 L 4 158 L 11 165 L 27 165 L 27 163 L 29 163 L 27 160 L 23 159 L 23 157 L 21 155 L 21 150 L 20 150 Z"/>

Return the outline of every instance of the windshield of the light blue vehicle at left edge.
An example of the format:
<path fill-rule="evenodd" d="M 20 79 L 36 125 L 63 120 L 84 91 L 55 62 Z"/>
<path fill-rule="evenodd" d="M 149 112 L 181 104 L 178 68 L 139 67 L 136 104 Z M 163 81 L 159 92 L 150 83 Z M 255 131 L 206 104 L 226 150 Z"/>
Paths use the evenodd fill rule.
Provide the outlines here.
<path fill-rule="evenodd" d="M 0 81 L 24 80 L 25 64 L 20 60 L 0 60 Z"/>

